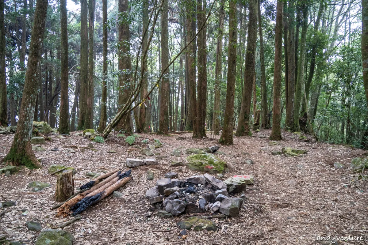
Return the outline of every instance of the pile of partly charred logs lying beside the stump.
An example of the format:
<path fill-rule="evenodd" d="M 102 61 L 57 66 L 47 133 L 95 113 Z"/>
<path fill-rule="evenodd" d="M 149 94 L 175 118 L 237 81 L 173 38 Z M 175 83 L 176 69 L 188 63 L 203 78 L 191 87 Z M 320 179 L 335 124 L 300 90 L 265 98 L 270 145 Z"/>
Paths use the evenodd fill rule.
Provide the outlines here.
<path fill-rule="evenodd" d="M 100 175 L 81 186 L 80 192 L 75 197 L 68 199 L 57 209 L 57 216 L 75 216 L 88 209 L 90 206 L 109 196 L 112 192 L 128 183 L 132 170 L 121 172 L 115 169 L 106 174 Z"/>

